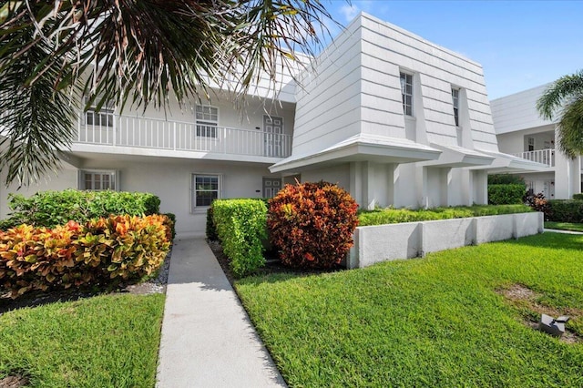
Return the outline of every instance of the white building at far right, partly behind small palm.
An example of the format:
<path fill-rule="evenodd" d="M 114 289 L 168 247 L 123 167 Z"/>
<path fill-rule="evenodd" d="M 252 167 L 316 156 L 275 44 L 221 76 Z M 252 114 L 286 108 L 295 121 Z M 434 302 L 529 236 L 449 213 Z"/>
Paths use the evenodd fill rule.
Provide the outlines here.
<path fill-rule="evenodd" d="M 543 170 L 516 171 L 529 190 L 543 193 L 547 199 L 571 199 L 581 192 L 581 158 L 570 159 L 558 151 L 555 123 L 538 115 L 537 99 L 548 86 L 492 100 L 496 138 L 502 152 L 546 166 Z"/>

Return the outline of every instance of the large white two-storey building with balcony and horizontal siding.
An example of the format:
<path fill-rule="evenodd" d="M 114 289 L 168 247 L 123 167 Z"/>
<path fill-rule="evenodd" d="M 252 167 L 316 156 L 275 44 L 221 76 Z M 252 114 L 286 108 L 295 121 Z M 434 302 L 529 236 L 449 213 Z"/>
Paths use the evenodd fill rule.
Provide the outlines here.
<path fill-rule="evenodd" d="M 337 182 L 367 209 L 417 208 L 486 203 L 488 172 L 541 168 L 499 152 L 479 64 L 371 15 L 278 81 L 277 94 L 251 89 L 242 119 L 218 89 L 167 116 L 89 110 L 59 177 L 23 194 L 149 191 L 187 236 L 204 234 L 212 199 L 270 197 L 294 179 Z"/>

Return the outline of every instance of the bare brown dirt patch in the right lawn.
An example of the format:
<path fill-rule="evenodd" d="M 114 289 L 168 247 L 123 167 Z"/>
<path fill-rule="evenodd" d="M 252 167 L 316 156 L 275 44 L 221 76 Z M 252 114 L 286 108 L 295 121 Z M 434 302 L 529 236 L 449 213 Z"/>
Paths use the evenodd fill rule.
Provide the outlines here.
<path fill-rule="evenodd" d="M 552 306 L 547 306 L 539 302 L 543 296 L 536 291 L 529 289 L 523 284 L 513 284 L 509 288 L 499 289 L 498 293 L 506 297 L 512 306 L 521 312 L 523 323 L 534 330 L 538 330 L 538 321 L 541 314 L 547 314 L 551 317 L 558 317 L 560 315 L 567 315 L 571 320 L 577 320 L 583 317 L 583 311 L 573 308 L 566 308 L 559 310 Z M 573 332 L 566 328 L 565 334 L 560 337 L 562 342 L 579 343 L 583 342 L 583 338 L 577 332 Z"/>

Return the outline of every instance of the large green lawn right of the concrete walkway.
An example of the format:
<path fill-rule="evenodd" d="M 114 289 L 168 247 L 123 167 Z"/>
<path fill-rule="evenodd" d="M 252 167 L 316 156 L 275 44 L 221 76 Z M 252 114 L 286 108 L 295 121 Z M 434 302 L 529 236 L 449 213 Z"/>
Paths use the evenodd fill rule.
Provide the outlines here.
<path fill-rule="evenodd" d="M 546 233 L 236 287 L 291 386 L 583 386 L 583 343 L 527 325 L 568 313 L 583 335 L 581 248 Z M 517 284 L 532 300 L 506 299 Z"/>

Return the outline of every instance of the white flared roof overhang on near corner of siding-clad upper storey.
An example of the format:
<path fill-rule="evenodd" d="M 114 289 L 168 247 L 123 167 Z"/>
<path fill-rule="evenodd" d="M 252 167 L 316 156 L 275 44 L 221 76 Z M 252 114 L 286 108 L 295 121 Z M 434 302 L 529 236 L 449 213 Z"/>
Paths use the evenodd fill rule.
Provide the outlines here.
<path fill-rule="evenodd" d="M 309 155 L 292 155 L 270 167 L 271 172 L 302 171 L 353 161 L 411 163 L 435 160 L 439 149 L 404 138 L 360 134 Z"/>

